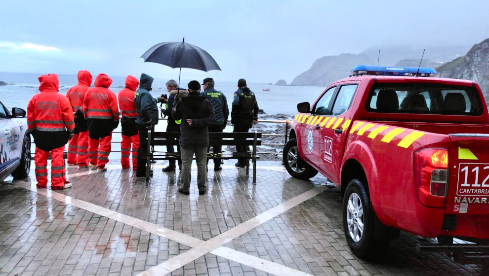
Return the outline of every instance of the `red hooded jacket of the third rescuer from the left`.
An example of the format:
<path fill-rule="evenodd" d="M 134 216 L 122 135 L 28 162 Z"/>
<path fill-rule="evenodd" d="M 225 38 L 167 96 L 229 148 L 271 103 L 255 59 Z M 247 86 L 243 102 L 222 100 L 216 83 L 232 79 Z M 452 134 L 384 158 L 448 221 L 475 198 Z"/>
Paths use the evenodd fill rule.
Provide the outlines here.
<path fill-rule="evenodd" d="M 112 79 L 106 74 L 95 78 L 95 87 L 91 87 L 83 100 L 83 116 L 85 119 L 112 119 L 119 121 L 117 97 L 109 87 Z"/>

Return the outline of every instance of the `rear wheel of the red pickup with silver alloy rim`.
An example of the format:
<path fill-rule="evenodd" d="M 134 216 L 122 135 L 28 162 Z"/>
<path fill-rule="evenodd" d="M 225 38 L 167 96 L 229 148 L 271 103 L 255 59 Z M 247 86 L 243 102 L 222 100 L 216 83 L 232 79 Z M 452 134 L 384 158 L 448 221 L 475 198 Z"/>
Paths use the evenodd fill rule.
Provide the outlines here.
<path fill-rule="evenodd" d="M 386 227 L 380 223 L 370 203 L 366 186 L 352 179 L 343 197 L 343 230 L 348 246 L 360 258 L 384 256 L 389 245 Z"/>

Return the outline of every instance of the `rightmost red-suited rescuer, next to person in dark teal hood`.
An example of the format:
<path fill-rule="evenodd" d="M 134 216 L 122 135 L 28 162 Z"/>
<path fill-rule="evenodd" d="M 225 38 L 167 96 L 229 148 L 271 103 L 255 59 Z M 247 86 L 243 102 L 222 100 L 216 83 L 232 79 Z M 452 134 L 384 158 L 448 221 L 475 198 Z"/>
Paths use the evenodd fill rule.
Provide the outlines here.
<path fill-rule="evenodd" d="M 119 91 L 118 100 L 121 109 L 121 165 L 122 169 L 130 167 L 129 155 L 132 143 L 132 170 L 137 170 L 137 150 L 139 148 L 139 132 L 136 129 L 136 107 L 134 107 L 134 94 L 139 80 L 134 76 L 125 78 L 125 88 Z"/>

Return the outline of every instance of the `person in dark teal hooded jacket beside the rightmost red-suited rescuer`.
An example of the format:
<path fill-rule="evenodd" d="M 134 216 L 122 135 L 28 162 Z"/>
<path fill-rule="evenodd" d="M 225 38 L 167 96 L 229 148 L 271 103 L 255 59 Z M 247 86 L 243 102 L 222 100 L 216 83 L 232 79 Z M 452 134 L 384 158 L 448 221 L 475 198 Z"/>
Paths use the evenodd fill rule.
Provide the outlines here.
<path fill-rule="evenodd" d="M 162 98 L 153 98 L 149 93 L 153 77 L 141 74 L 139 89 L 134 94 L 134 107 L 136 108 L 136 129 L 139 131 L 139 148 L 137 151 L 137 177 L 146 177 L 146 158 L 148 155 L 148 141 L 143 140 L 141 132 L 155 131 L 158 124 L 158 105 Z"/>

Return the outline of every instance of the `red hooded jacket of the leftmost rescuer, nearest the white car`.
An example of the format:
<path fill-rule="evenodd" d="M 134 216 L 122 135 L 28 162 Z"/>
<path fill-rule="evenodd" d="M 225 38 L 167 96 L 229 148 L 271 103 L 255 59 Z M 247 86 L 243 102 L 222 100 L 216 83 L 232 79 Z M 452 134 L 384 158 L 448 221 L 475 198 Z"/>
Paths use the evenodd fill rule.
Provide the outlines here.
<path fill-rule="evenodd" d="M 73 111 L 68 98 L 58 93 L 58 75 L 39 77 L 38 93 L 27 104 L 27 129 L 34 131 L 60 132 L 75 131 Z"/>

